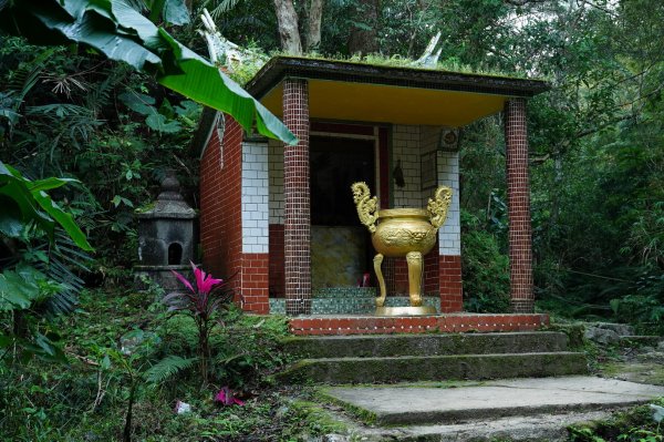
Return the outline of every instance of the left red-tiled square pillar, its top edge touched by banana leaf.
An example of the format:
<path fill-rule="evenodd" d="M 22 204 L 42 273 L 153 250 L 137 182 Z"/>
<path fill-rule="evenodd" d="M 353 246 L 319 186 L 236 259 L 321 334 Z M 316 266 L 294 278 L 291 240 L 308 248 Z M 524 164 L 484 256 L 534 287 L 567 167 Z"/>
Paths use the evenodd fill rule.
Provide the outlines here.
<path fill-rule="evenodd" d="M 286 313 L 311 313 L 311 205 L 309 194 L 309 88 L 283 81 L 283 122 L 300 140 L 283 152 Z"/>

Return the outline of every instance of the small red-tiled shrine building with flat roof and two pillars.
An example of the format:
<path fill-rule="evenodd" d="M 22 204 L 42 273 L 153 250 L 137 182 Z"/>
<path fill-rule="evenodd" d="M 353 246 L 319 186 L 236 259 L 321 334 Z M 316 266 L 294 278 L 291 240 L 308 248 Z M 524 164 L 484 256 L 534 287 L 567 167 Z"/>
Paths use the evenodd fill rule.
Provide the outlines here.
<path fill-rule="evenodd" d="M 198 141 L 203 265 L 215 276 L 235 275 L 245 310 L 298 317 L 320 313 L 312 302 L 317 298 L 335 302 L 336 294 L 370 292 L 364 299 L 373 299 L 374 251 L 350 188 L 363 181 L 381 208 L 423 208 L 436 186 L 453 189 L 437 245 L 424 259 L 423 292 L 448 322 L 463 315 L 459 129 L 502 112 L 515 316 L 506 316 L 502 328 L 494 318 L 494 329 L 527 328 L 509 328 L 508 320 L 533 327 L 547 320 L 532 315 L 526 127 L 526 101 L 548 90 L 546 82 L 277 56 L 246 89 L 299 143 L 247 134 L 229 115 L 204 113 Z M 405 259 L 393 259 L 384 271 L 388 297 L 405 294 Z M 333 312 L 357 313 L 352 308 Z"/>

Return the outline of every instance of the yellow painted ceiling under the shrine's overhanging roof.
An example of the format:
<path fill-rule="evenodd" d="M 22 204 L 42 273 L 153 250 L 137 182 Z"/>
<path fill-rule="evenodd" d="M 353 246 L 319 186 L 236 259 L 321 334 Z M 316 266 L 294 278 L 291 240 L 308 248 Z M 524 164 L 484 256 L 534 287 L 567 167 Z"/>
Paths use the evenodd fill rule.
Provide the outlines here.
<path fill-rule="evenodd" d="M 282 115 L 282 84 L 261 102 Z M 312 119 L 464 126 L 502 110 L 507 96 L 381 84 L 309 80 Z"/>

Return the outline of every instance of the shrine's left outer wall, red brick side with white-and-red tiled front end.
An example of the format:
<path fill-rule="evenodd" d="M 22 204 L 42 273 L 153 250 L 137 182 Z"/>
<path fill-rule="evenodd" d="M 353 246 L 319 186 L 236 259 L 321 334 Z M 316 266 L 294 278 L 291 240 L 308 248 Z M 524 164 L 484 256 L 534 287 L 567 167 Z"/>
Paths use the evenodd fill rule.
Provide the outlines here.
<path fill-rule="evenodd" d="M 245 310 L 268 313 L 267 144 L 242 137 L 226 115 L 222 143 L 212 131 L 200 162 L 203 264 L 218 278 L 235 275 L 230 285 Z"/>

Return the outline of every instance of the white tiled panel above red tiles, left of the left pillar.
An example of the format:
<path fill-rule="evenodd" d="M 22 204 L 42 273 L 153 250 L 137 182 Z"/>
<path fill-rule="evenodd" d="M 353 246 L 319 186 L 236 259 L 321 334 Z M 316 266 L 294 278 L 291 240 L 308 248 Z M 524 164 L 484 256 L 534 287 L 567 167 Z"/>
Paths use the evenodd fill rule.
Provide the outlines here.
<path fill-rule="evenodd" d="M 268 253 L 268 143 L 242 143 L 242 253 Z"/>

